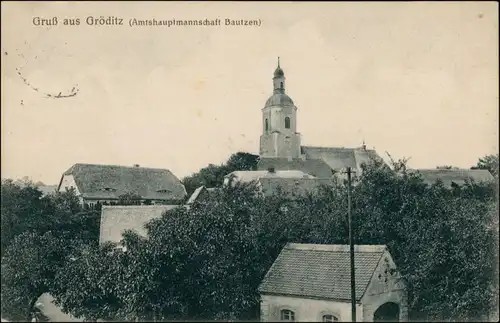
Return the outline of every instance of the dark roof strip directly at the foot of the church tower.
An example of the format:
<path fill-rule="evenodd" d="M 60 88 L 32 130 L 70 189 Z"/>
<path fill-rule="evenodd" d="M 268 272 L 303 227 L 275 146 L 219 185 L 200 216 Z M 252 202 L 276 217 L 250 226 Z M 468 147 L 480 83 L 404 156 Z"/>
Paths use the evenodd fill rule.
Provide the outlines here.
<path fill-rule="evenodd" d="M 332 169 L 322 159 L 292 159 L 287 158 L 261 158 L 257 164 L 258 170 L 300 170 L 315 177 L 332 177 Z"/>

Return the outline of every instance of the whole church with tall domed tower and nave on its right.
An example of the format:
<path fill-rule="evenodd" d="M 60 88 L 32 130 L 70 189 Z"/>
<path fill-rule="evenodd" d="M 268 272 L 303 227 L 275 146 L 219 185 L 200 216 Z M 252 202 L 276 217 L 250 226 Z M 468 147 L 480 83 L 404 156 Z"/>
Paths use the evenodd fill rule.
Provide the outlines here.
<path fill-rule="evenodd" d="M 297 132 L 297 109 L 286 93 L 285 72 L 278 58 L 273 94 L 262 109 L 259 170 L 301 170 L 318 178 L 328 178 L 346 167 L 360 174 L 363 163 L 382 160 L 364 144 L 359 148 L 302 146 Z"/>

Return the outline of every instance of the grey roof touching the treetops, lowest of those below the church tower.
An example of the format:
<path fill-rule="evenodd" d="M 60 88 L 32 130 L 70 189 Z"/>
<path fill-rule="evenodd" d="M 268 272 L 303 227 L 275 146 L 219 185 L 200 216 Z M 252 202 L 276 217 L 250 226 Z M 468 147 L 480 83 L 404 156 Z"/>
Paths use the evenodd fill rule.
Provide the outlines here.
<path fill-rule="evenodd" d="M 315 193 L 321 186 L 332 186 L 330 178 L 260 178 L 260 188 L 264 195 L 272 195 L 281 189 L 287 195 Z"/>

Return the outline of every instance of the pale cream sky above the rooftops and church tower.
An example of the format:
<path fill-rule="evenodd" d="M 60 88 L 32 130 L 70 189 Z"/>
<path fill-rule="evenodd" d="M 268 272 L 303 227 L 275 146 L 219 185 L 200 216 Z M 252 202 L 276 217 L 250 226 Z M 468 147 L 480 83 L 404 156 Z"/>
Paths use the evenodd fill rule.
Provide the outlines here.
<path fill-rule="evenodd" d="M 1 6 L 2 178 L 56 184 L 75 163 L 182 178 L 238 151 L 258 154 L 278 56 L 303 145 L 364 140 L 412 168 L 469 168 L 498 152 L 496 2 Z M 89 26 L 88 16 L 124 25 Z M 133 18 L 223 25 L 130 27 Z"/>

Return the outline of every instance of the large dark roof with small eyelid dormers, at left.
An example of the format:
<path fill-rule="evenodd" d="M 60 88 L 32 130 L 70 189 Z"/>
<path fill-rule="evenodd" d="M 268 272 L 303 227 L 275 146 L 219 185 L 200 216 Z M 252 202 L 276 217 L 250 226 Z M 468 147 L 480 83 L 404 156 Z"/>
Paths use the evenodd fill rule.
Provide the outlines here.
<path fill-rule="evenodd" d="M 180 200 L 187 195 L 181 181 L 167 169 L 75 164 L 64 175 L 73 175 L 82 197 L 89 199 L 135 193 L 142 199 Z"/>

